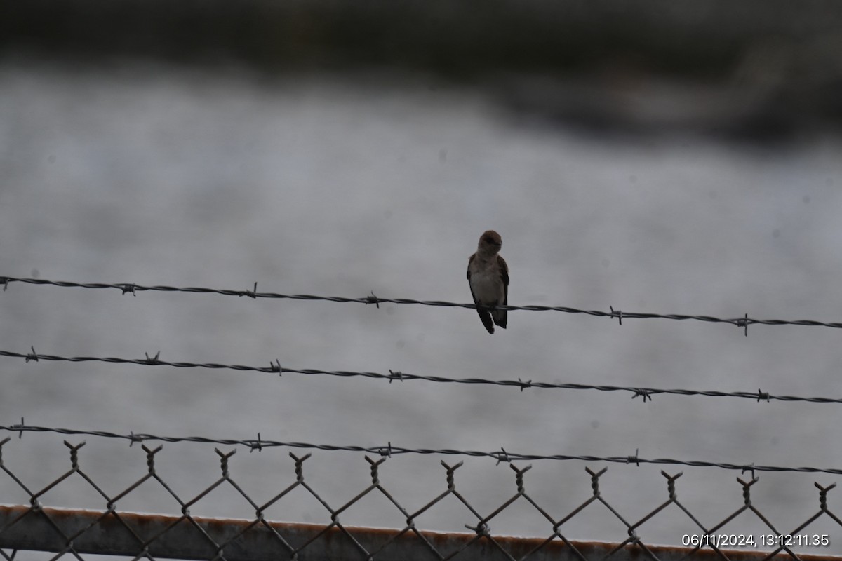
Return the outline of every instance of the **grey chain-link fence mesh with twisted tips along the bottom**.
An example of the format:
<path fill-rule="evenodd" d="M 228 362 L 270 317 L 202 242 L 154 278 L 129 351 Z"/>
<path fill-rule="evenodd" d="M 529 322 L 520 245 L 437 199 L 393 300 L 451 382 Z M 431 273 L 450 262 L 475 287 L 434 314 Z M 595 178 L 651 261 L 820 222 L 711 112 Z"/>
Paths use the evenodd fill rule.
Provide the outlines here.
<path fill-rule="evenodd" d="M 6 427 L 8 428 L 8 427 Z M 44 438 L 35 437 L 35 441 Z M 99 439 L 104 440 L 104 439 Z M 46 484 L 35 484 L 29 469 L 13 467 L 21 463 L 21 456 L 35 450 L 31 437 L 12 440 L 6 437 L 0 442 L 0 493 L 7 504 L 0 507 L 0 556 L 5 559 L 23 558 L 34 551 L 55 553 L 49 558 L 91 558 L 96 554 L 118 555 L 124 558 L 184 558 L 184 559 L 839 559 L 842 544 L 842 520 L 829 504 L 836 484 L 814 484 L 818 505 L 808 513 L 796 527 L 779 527 L 770 516 L 753 504 L 752 493 L 759 484 L 754 473 L 740 474 L 730 490 L 711 492 L 711 503 L 721 513 L 716 520 L 703 519 L 691 511 L 680 498 L 679 484 L 682 473 L 661 471 L 661 495 L 639 496 L 634 500 L 642 505 L 643 516 L 630 516 L 621 506 L 624 502 L 612 495 L 614 489 L 605 491 L 606 478 L 611 478 L 607 467 L 588 466 L 582 474 L 582 486 L 590 485 L 584 500 L 573 500 L 578 493 L 567 489 L 551 489 L 536 492 L 529 482 L 531 465 L 525 463 L 504 463 L 509 475 L 506 488 L 501 489 L 494 481 L 480 481 L 477 485 L 477 471 L 470 466 L 463 467 L 462 461 L 429 461 L 424 458 L 424 469 L 438 472 L 438 488 L 429 490 L 421 503 L 409 505 L 416 500 L 399 498 L 407 486 L 401 479 L 392 479 L 390 463 L 397 462 L 387 454 L 364 456 L 365 463 L 338 461 L 340 452 L 319 451 L 316 458 L 311 453 L 289 453 L 289 458 L 266 453 L 248 458 L 259 462 L 271 462 L 272 470 L 278 473 L 274 484 L 264 485 L 257 492 L 247 491 L 251 485 L 247 472 L 237 471 L 237 448 L 221 450 L 216 454 L 207 450 L 207 444 L 192 443 L 205 447 L 205 456 L 216 458 L 216 474 L 210 473 L 210 463 L 196 468 L 189 462 L 179 462 L 179 447 L 187 442 L 167 444 L 168 454 L 163 460 L 163 445 L 148 446 L 141 443 L 141 450 L 132 447 L 128 457 L 134 471 L 145 462 L 143 473 L 131 483 L 116 491 L 106 487 L 114 484 L 115 474 L 100 473 L 108 466 L 98 463 L 114 461 L 114 442 L 105 442 L 106 455 L 92 457 L 93 467 L 85 460 L 85 442 L 64 441 L 69 452 L 62 471 L 56 479 Z M 134 442 L 132 442 L 134 443 Z M 101 446 L 103 442 L 95 442 Z M 173 448 L 173 446 L 175 446 Z M 55 443 L 51 444 L 55 448 Z M 173 450 L 176 452 L 173 456 Z M 254 450 L 254 448 L 252 448 Z M 120 454 L 126 455 L 127 448 L 120 447 Z M 55 457 L 51 449 L 51 458 Z M 173 458 L 176 463 L 173 464 Z M 186 458 L 186 456 L 185 456 Z M 345 455 L 344 458 L 349 458 Z M 413 461 L 418 460 L 413 456 Z M 13 462 L 17 459 L 18 462 Z M 450 458 L 448 458 L 450 460 Z M 487 461 L 487 460 L 486 460 Z M 166 468 L 159 464 L 166 463 Z M 333 478 L 339 478 L 340 486 L 350 486 L 347 471 L 360 472 L 367 468 L 368 481 L 360 489 L 349 490 L 353 495 L 348 500 L 334 501 L 319 486 L 319 476 L 312 476 L 315 469 L 329 464 Z M 24 462 L 25 464 L 25 462 Z M 283 465 L 281 465 L 283 464 Z M 112 464 L 113 467 L 114 464 Z M 55 463 L 51 467 L 55 468 Z M 173 469 L 174 468 L 174 469 Z M 121 469 L 116 469 L 120 472 Z M 131 471 L 131 470 L 127 470 Z M 186 473 L 185 473 L 186 472 Z M 138 473 L 141 473 L 138 471 Z M 638 474 L 641 472 L 637 472 Z M 383 477 L 384 474 L 387 477 Z M 650 472 L 650 474 L 652 474 Z M 801 477 L 808 475 L 799 474 Z M 198 484 L 197 490 L 184 491 L 184 478 Z M 616 476 L 615 476 L 616 477 Z M 390 479 L 389 482 L 386 479 Z M 108 485 L 98 483 L 107 479 Z M 206 479 L 206 483 L 204 483 Z M 634 494 L 635 478 L 624 486 L 626 493 Z M 179 480 L 180 482 L 173 481 Z M 347 483 L 344 483 L 347 482 Z M 468 484 L 468 485 L 463 485 Z M 68 485 L 80 486 L 87 497 L 88 505 L 99 504 L 98 508 L 67 509 L 67 505 L 51 504 L 56 491 Z M 607 485 L 610 487 L 610 485 Z M 269 487 L 269 488 L 267 488 Z M 482 495 L 477 495 L 477 489 Z M 579 491 L 579 490 L 577 490 Z M 503 493 L 503 495 L 500 495 Z M 738 496 L 741 493 L 741 497 Z M 163 495 L 172 509 L 162 514 L 137 514 L 128 505 L 139 495 Z M 553 495 L 563 495 L 562 500 Z M 202 516 L 205 504 L 211 495 L 225 495 L 230 511 L 246 511 L 248 517 Z M 298 500 L 291 500 L 297 495 Z M 487 496 L 495 497 L 489 502 Z M 72 495 L 64 495 L 72 496 Z M 496 497 L 500 497 L 497 499 Z M 8 499 L 24 497 L 18 505 L 8 505 Z M 301 497 L 315 506 L 321 514 L 321 523 L 311 523 L 303 511 L 297 511 Z M 570 497 L 570 500 L 565 500 Z M 835 498 L 835 497 L 834 497 Z M 65 498 L 64 500 L 68 500 Z M 70 499 L 72 500 L 72 499 Z M 354 522 L 358 507 L 376 500 L 376 508 L 386 511 L 389 529 L 360 527 Z M 26 504 L 28 503 L 28 504 Z M 236 505 L 236 506 L 235 506 Z M 425 525 L 440 528 L 438 515 L 440 505 L 456 509 L 461 527 L 452 527 L 449 532 L 430 531 Z M 564 505 L 559 511 L 557 505 Z M 73 505 L 70 505 L 73 506 Z M 575 535 L 572 522 L 587 512 L 600 510 L 610 516 L 619 528 L 617 535 L 606 535 L 605 542 L 587 542 Z M 506 513 L 516 510 L 518 516 L 534 516 L 541 521 L 542 531 L 534 537 L 507 537 Z M 839 508 L 837 507 L 836 511 Z M 780 513 L 775 513 L 778 515 Z M 659 546 L 647 538 L 653 528 L 678 517 L 689 530 L 675 538 L 669 546 Z M 286 520 L 286 521 L 280 521 Z M 293 521 L 289 521 L 293 520 Z M 747 521 L 751 523 L 748 524 Z M 741 532 L 738 528 L 753 528 Z M 759 530 L 757 530 L 759 528 Z M 85 556 L 85 557 L 83 557 Z M 26 557 L 29 558 L 29 557 Z"/>

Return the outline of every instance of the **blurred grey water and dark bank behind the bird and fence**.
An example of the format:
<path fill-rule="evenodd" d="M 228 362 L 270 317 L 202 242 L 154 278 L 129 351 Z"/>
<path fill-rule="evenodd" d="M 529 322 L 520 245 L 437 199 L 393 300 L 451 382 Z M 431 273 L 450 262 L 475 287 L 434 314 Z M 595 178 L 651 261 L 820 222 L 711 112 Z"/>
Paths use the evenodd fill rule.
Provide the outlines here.
<path fill-rule="evenodd" d="M 0 275 L 469 302 L 467 257 L 494 229 L 510 304 L 842 320 L 839 3 L 30 0 L 0 2 L 0 22 Z M 512 311 L 490 336 L 458 308 L 22 283 L 0 314 L 12 352 L 842 397 L 842 331 L 826 327 L 746 337 Z M 13 358 L 0 377 L 8 425 L 842 468 L 834 404 Z M 63 439 L 24 434 L 4 462 L 40 489 L 69 468 Z M 212 448 L 165 445 L 163 478 L 197 495 L 218 477 Z M 232 473 L 258 502 L 294 481 L 287 450 L 242 452 Z M 139 447 L 88 438 L 80 454 L 109 493 L 146 473 Z M 440 459 L 391 458 L 381 479 L 416 510 L 446 489 Z M 526 489 L 561 518 L 591 495 L 586 465 L 602 467 L 536 461 Z M 317 452 L 306 468 L 334 507 L 370 481 L 361 454 Z M 668 498 L 659 470 L 610 465 L 606 500 L 636 521 Z M 750 477 L 666 471 L 685 472 L 679 499 L 709 526 Z M 466 459 L 456 475 L 483 514 L 514 494 L 504 463 Z M 754 505 L 781 532 L 818 511 L 814 481 L 836 480 L 759 478 Z M 0 477 L 0 503 L 29 495 Z M 104 508 L 84 482 L 44 503 Z M 160 490 L 119 507 L 180 508 Z M 225 492 L 191 512 L 253 516 Z M 306 496 L 268 517 L 329 520 Z M 404 526 L 386 501 L 341 520 Z M 453 504 L 418 526 L 471 522 Z M 491 523 L 549 526 L 520 503 Z M 674 511 L 638 534 L 679 544 L 695 530 Z M 745 515 L 722 531 L 768 528 Z M 827 517 L 810 531 L 842 543 Z M 627 537 L 600 508 L 562 532 Z"/>

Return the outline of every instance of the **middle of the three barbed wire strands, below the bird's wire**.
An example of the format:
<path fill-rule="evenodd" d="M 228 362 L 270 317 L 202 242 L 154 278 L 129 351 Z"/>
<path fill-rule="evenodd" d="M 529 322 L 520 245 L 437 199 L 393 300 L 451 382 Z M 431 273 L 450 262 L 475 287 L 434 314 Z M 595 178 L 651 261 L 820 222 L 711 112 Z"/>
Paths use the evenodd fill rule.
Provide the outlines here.
<path fill-rule="evenodd" d="M 656 394 L 668 395 L 687 395 L 687 396 L 708 396 L 708 397 L 738 397 L 755 401 L 802 401 L 809 403 L 842 403 L 842 398 L 830 397 L 802 397 L 798 395 L 775 395 L 769 392 L 758 389 L 756 392 L 726 392 L 717 390 L 700 390 L 700 389 L 663 389 L 663 388 L 641 388 L 633 386 L 612 386 L 612 385 L 594 385 L 594 384 L 562 384 L 554 382 L 535 382 L 533 380 L 492 380 L 488 378 L 446 378 L 445 376 L 429 376 L 422 374 L 404 373 L 395 370 L 389 370 L 389 373 L 378 372 L 354 372 L 349 370 L 319 370 L 317 368 L 288 368 L 280 364 L 280 360 L 275 359 L 274 363 L 269 363 L 267 367 L 248 366 L 245 364 L 220 364 L 220 363 L 187 363 L 187 362 L 169 362 L 161 360 L 161 353 L 157 352 L 154 357 L 146 354 L 145 358 L 120 358 L 120 357 L 60 357 L 57 355 L 39 354 L 35 352 L 35 347 L 30 347 L 32 352 L 11 352 L 0 350 L 0 356 L 24 358 L 29 361 L 38 362 L 40 360 L 58 361 L 68 363 L 122 363 L 122 364 L 138 364 L 141 366 L 170 366 L 174 368 L 210 368 L 210 369 L 227 369 L 237 370 L 240 372 L 260 372 L 260 373 L 277 373 L 283 376 L 285 373 L 304 374 L 304 375 L 325 375 L 336 376 L 340 378 L 376 378 L 388 380 L 392 382 L 406 382 L 411 380 L 424 380 L 426 382 L 434 382 L 439 384 L 481 384 L 502 387 L 514 387 L 523 391 L 524 389 L 590 389 L 601 392 L 628 392 L 632 394 L 632 399 L 642 397 L 643 402 L 652 400 L 652 396 Z"/>

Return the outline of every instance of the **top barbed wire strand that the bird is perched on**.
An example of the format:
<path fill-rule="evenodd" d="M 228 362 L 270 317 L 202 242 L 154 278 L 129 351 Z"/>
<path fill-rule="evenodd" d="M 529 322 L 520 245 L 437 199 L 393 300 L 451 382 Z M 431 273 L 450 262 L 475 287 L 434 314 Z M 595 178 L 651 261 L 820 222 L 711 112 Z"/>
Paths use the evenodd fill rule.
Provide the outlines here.
<path fill-rule="evenodd" d="M 416 300 L 409 298 L 381 298 L 376 296 L 374 292 L 363 298 L 344 298 L 341 296 L 317 296 L 315 294 L 278 294 L 274 292 L 258 292 L 258 283 L 254 283 L 252 290 L 232 290 L 226 288 L 203 288 L 203 287 L 174 287 L 167 285 L 143 286 L 135 283 L 73 283 L 68 281 L 51 281 L 44 278 L 13 278 L 0 276 L 0 284 L 3 284 L 3 290 L 8 288 L 8 283 L 29 283 L 35 285 L 48 285 L 57 287 L 73 287 L 73 288 L 116 288 L 123 294 L 137 295 L 138 292 L 159 291 L 159 292 L 184 292 L 195 294 L 222 294 L 224 296 L 247 296 L 248 298 L 272 298 L 272 299 L 296 299 L 296 300 L 322 300 L 327 302 L 343 302 L 343 303 L 359 303 L 359 304 L 376 304 L 380 308 L 380 304 L 419 304 L 424 306 L 442 306 L 450 308 L 468 308 L 476 309 L 476 304 L 460 304 L 457 302 L 447 302 L 445 300 Z M 567 306 L 497 306 L 500 310 L 522 310 L 522 311 L 557 311 L 566 314 L 584 314 L 594 315 L 598 317 L 607 317 L 610 319 L 617 319 L 622 325 L 623 320 L 640 320 L 640 319 L 661 319 L 661 320 L 696 320 L 706 321 L 709 323 L 727 323 L 737 325 L 745 329 L 745 335 L 749 334 L 749 325 L 811 325 L 820 327 L 834 327 L 842 329 L 840 322 L 828 322 L 818 320 L 757 320 L 749 318 L 748 314 L 740 318 L 719 318 L 712 315 L 685 315 L 685 314 L 651 314 L 642 312 L 624 312 L 622 310 L 615 310 L 610 306 L 610 311 L 604 310 L 579 310 L 577 308 L 569 308 Z"/>

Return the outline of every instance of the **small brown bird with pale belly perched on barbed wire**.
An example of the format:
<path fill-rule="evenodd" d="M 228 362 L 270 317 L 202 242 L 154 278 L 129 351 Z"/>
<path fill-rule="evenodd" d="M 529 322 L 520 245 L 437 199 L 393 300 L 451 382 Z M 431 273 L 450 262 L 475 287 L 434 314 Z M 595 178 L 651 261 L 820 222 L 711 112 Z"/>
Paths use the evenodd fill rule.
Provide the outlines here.
<path fill-rule="evenodd" d="M 479 237 L 477 252 L 468 259 L 468 284 L 477 314 L 489 333 L 494 324 L 506 328 L 506 310 L 488 310 L 497 305 L 509 304 L 509 267 L 498 255 L 503 240 L 494 230 L 488 230 Z"/>

